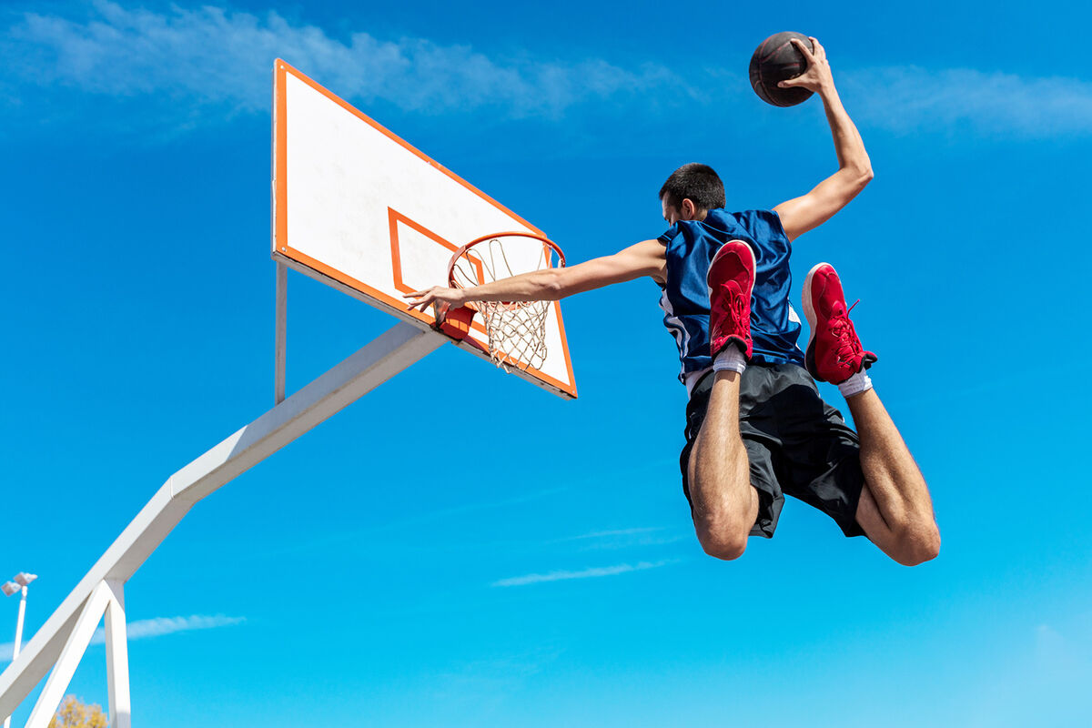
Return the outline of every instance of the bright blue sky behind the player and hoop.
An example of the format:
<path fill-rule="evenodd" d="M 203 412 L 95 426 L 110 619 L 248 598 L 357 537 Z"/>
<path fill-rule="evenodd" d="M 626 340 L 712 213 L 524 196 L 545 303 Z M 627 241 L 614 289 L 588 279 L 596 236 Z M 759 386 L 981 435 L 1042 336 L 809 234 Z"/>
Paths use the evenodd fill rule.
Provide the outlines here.
<path fill-rule="evenodd" d="M 799 239 L 794 272 L 830 261 L 862 299 L 940 558 L 898 566 L 795 502 L 741 560 L 704 557 L 674 344 L 636 282 L 566 301 L 575 402 L 444 347 L 200 503 L 127 587 L 134 716 L 1088 725 L 1092 79 L 1059 32 L 1090 20 L 4 3 L 0 575 L 40 575 L 28 632 L 171 473 L 272 403 L 275 57 L 579 261 L 661 232 L 656 190 L 685 162 L 713 165 L 736 208 L 833 170 L 816 102 L 775 109 L 747 85 L 753 47 L 793 28 L 827 46 L 877 175 Z M 392 324 L 293 275 L 289 390 Z M 447 438 L 488 453 L 484 477 L 436 454 Z M 0 642 L 15 609 L 0 602 Z M 72 692 L 105 703 L 104 663 L 92 646 Z"/>

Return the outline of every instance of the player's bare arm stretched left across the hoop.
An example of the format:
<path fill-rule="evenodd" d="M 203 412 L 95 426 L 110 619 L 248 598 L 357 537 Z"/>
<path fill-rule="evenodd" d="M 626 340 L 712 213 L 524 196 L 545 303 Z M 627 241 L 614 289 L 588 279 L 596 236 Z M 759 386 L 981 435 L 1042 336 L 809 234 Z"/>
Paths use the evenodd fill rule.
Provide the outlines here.
<path fill-rule="evenodd" d="M 665 265 L 664 246 L 658 240 L 645 240 L 579 265 L 534 271 L 473 288 L 434 286 L 403 298 L 407 299 L 407 308 L 420 310 L 435 302 L 463 306 L 471 301 L 555 301 L 645 275 L 663 283 Z"/>

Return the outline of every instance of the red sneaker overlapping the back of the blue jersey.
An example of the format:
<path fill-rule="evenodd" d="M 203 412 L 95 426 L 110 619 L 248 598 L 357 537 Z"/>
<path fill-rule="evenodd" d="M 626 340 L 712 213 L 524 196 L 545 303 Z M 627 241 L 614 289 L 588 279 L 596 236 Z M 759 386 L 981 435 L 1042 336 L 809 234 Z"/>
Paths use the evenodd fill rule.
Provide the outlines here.
<path fill-rule="evenodd" d="M 729 240 L 709 264 L 709 350 L 716 357 L 729 342 L 750 360 L 750 296 L 755 287 L 755 253 L 743 240 Z"/>

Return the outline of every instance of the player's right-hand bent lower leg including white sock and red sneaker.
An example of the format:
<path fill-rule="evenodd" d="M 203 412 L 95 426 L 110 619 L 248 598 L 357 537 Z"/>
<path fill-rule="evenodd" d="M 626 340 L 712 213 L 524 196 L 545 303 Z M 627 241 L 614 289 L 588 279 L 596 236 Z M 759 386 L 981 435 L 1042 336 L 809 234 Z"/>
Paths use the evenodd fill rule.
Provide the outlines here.
<path fill-rule="evenodd" d="M 865 374 L 876 355 L 853 329 L 834 268 L 820 263 L 804 283 L 804 312 L 811 327 L 807 367 L 845 395 L 860 438 L 865 488 L 857 523 L 885 553 L 906 565 L 936 558 L 940 532 L 925 478 Z"/>

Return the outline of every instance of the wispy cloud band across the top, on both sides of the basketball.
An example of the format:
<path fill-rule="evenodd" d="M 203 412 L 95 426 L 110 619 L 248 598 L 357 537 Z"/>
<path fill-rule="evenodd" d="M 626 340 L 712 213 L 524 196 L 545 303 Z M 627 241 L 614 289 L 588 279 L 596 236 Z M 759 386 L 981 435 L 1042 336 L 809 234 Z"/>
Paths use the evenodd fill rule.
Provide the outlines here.
<path fill-rule="evenodd" d="M 334 34 L 275 11 L 173 5 L 156 12 L 106 0 L 81 8 L 8 15 L 13 20 L 0 27 L 0 108 L 19 107 L 23 91 L 38 86 L 139 100 L 140 114 L 187 128 L 264 112 L 276 57 L 356 104 L 378 102 L 418 115 L 549 122 L 589 108 L 594 118 L 607 114 L 632 126 L 660 117 L 666 123 L 680 108 L 716 114 L 738 109 L 744 98 L 759 104 L 743 69 L 680 71 L 658 62 L 542 59 L 522 50 L 506 53 L 497 45 L 486 52 L 470 44 L 365 31 Z M 1087 81 L 966 68 L 839 68 L 843 97 L 865 128 L 1017 139 L 1092 131 Z M 34 106 L 38 115 L 67 104 Z M 761 115 L 753 116 L 761 123 Z"/>

